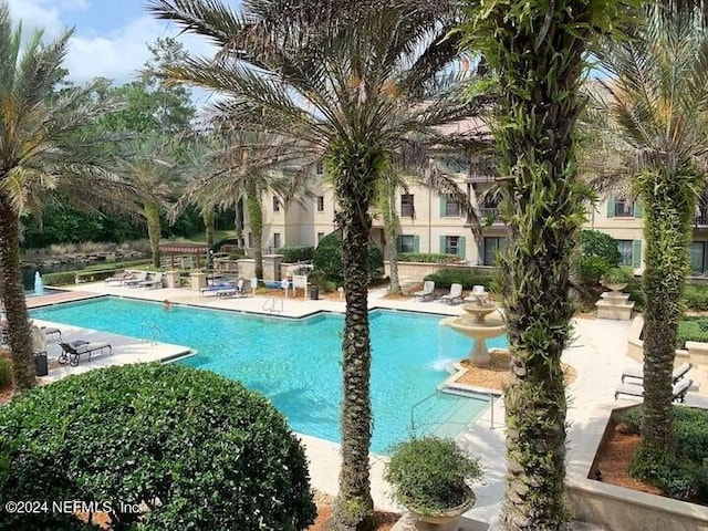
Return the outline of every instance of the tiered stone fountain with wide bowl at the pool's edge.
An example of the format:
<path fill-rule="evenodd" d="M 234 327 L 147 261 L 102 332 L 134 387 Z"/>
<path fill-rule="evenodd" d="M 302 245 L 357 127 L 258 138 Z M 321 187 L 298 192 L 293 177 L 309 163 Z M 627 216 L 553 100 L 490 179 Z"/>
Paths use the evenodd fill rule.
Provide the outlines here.
<path fill-rule="evenodd" d="M 487 350 L 487 340 L 502 335 L 507 325 L 501 314 L 490 317 L 489 314 L 497 311 L 497 306 L 489 299 L 483 287 L 475 287 L 470 296 L 465 299 L 462 304 L 465 315 L 455 317 L 446 317 L 440 324 L 471 337 L 475 341 L 472 348 L 469 351 L 469 361 L 478 367 L 489 366 L 491 357 Z"/>

